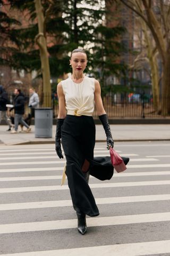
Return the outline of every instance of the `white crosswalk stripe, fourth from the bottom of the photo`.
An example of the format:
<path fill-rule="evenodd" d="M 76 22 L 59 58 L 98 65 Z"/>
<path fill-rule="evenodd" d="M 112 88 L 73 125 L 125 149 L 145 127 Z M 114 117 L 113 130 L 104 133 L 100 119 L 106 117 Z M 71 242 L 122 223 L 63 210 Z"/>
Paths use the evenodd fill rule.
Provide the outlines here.
<path fill-rule="evenodd" d="M 89 186 L 91 188 L 117 188 L 117 187 L 159 186 L 159 185 L 170 185 L 170 180 L 89 184 Z M 69 189 L 69 187 L 67 185 L 64 185 L 64 186 L 59 186 L 59 185 L 58 186 L 39 186 L 39 187 L 16 187 L 16 188 L 0 188 L 0 193 L 67 190 L 67 189 Z"/>

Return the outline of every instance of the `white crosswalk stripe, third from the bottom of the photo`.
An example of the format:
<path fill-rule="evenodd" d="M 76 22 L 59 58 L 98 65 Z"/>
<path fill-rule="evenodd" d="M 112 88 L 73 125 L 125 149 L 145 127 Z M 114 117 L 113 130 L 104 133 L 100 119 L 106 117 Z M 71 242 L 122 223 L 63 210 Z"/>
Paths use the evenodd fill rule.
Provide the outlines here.
<path fill-rule="evenodd" d="M 96 198 L 97 204 L 121 204 L 170 200 L 170 194 Z M 72 206 L 71 200 L 0 204 L 0 211 Z"/>

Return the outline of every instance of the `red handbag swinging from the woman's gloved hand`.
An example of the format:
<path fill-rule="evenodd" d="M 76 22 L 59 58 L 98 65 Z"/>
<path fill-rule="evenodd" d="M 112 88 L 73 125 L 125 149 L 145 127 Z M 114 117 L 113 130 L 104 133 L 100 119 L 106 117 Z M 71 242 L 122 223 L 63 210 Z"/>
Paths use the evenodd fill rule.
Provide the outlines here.
<path fill-rule="evenodd" d="M 114 148 L 110 148 L 110 155 L 111 155 L 111 162 L 113 164 L 114 169 L 116 172 L 123 172 L 126 170 L 126 165 L 123 162 L 123 159 L 118 153 L 115 151 Z"/>

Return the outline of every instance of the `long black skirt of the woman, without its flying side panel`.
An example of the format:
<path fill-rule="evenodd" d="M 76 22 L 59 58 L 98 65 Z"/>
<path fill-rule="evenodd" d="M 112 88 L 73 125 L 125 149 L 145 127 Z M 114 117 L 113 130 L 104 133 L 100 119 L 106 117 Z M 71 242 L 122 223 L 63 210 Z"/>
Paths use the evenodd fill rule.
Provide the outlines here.
<path fill-rule="evenodd" d="M 75 211 L 99 215 L 95 198 L 82 171 L 85 159 L 94 159 L 96 128 L 92 116 L 66 115 L 61 128 L 66 175 Z"/>

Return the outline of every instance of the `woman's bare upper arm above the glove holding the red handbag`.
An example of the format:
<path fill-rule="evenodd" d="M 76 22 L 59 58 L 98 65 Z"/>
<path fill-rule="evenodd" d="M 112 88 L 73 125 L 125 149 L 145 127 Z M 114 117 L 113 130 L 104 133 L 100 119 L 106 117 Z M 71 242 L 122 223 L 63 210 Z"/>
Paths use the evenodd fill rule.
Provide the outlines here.
<path fill-rule="evenodd" d="M 103 102 L 101 99 L 101 89 L 100 89 L 100 84 L 97 80 L 95 80 L 95 105 L 97 109 L 97 115 L 103 115 L 106 114 L 106 111 L 103 107 Z"/>

